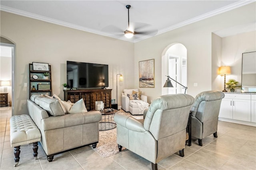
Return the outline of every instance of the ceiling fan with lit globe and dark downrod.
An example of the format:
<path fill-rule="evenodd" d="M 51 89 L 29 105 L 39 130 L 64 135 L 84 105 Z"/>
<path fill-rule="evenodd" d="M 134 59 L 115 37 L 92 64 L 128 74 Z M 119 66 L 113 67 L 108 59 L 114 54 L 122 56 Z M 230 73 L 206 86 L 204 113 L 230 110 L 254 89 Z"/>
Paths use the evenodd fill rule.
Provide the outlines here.
<path fill-rule="evenodd" d="M 150 34 L 150 33 L 157 33 L 157 30 L 152 30 L 152 31 L 144 31 L 144 32 L 137 32 L 134 31 L 135 28 L 130 27 L 130 15 L 129 15 L 129 9 L 131 8 L 130 5 L 126 5 L 126 9 L 128 9 L 128 28 L 124 31 L 124 36 L 126 38 L 132 38 L 135 34 Z M 138 23 L 137 23 L 138 24 Z M 142 25 L 143 23 L 140 23 Z M 148 24 L 143 24 L 140 28 L 145 27 Z M 137 27 L 137 29 L 140 29 Z"/>

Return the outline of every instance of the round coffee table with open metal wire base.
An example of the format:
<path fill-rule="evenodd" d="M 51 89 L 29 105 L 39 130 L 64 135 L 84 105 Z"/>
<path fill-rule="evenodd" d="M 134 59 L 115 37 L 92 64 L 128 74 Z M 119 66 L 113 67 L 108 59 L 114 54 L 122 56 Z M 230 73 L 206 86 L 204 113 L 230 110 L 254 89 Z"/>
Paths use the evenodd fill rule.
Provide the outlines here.
<path fill-rule="evenodd" d="M 116 128 L 116 123 L 114 122 L 114 115 L 118 112 L 116 109 L 108 111 L 108 109 L 103 109 L 101 111 L 102 119 L 99 122 L 99 130 L 106 131 Z"/>

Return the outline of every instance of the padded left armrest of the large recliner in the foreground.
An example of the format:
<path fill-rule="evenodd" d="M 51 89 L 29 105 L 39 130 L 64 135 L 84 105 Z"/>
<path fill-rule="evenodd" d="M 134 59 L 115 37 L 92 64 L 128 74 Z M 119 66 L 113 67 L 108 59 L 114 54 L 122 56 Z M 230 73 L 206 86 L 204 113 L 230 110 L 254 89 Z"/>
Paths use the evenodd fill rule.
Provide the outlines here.
<path fill-rule="evenodd" d="M 118 125 L 126 127 L 131 131 L 136 131 L 136 132 L 146 131 L 146 129 L 144 128 L 144 124 L 131 116 L 116 114 L 114 116 L 114 121 Z"/>

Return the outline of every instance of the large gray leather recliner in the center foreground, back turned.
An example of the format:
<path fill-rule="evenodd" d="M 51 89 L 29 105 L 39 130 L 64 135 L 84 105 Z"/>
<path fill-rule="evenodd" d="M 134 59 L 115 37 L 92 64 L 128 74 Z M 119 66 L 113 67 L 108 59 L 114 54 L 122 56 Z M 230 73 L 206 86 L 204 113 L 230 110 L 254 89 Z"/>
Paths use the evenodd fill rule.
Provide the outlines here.
<path fill-rule="evenodd" d="M 157 170 L 158 162 L 178 151 L 183 157 L 193 103 L 194 98 L 188 94 L 170 94 L 156 98 L 144 111 L 144 119 L 116 114 L 119 151 L 126 147 L 152 162 L 153 170 Z"/>

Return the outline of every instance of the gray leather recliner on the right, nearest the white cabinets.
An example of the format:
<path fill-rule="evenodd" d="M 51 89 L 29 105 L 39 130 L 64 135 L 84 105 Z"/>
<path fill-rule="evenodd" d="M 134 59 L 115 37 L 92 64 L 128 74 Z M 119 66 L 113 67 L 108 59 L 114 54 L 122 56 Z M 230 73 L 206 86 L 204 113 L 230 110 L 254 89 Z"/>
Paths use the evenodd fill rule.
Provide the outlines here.
<path fill-rule="evenodd" d="M 218 115 L 224 96 L 223 92 L 218 91 L 201 92 L 196 96 L 191 107 L 191 136 L 198 139 L 198 145 L 203 146 L 202 139 L 211 134 L 218 137 Z"/>

